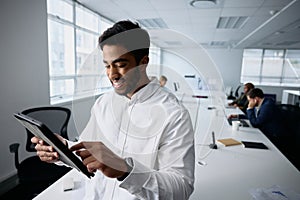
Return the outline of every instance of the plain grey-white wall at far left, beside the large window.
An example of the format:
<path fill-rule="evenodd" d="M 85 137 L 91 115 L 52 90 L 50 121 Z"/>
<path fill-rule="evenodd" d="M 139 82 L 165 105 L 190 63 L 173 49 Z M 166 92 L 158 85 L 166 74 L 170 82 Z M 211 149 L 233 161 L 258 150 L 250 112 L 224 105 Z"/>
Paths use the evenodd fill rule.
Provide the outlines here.
<path fill-rule="evenodd" d="M 49 104 L 45 0 L 1 0 L 0 4 L 0 181 L 16 172 L 9 144 L 21 143 L 24 128 L 12 117 L 24 108 Z"/>

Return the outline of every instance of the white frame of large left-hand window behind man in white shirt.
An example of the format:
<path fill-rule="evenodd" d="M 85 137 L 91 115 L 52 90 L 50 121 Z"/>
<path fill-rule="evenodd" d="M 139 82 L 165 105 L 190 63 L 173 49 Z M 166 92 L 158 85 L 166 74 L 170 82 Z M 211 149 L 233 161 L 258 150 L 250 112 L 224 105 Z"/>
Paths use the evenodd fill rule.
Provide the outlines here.
<path fill-rule="evenodd" d="M 50 3 L 50 1 L 53 2 L 53 0 L 47 0 L 47 5 L 48 5 L 48 3 Z M 79 73 L 80 67 L 82 67 L 82 65 L 79 65 L 78 61 L 81 60 L 82 63 L 84 63 L 86 61 L 86 58 L 91 55 L 93 56 L 93 54 L 87 55 L 87 57 L 85 59 L 81 59 L 81 57 L 78 56 L 79 53 L 77 51 L 77 40 L 78 39 L 83 40 L 83 38 L 78 38 L 77 32 L 83 31 L 88 34 L 93 34 L 96 36 L 96 38 L 98 38 L 100 33 L 103 32 L 104 30 L 106 30 L 108 27 L 111 27 L 114 22 L 108 18 L 103 17 L 101 14 L 87 8 L 86 6 L 80 4 L 79 2 L 77 2 L 75 0 L 57 0 L 57 1 L 69 3 L 72 6 L 72 13 L 73 13 L 72 20 L 64 19 L 63 17 L 58 16 L 59 12 L 57 12 L 56 10 L 53 10 L 53 13 L 58 13 L 58 15 L 49 13 L 49 9 L 47 7 L 47 15 L 48 15 L 48 18 L 47 18 L 48 25 L 47 26 L 48 26 L 48 30 L 49 30 L 49 21 L 53 21 L 53 22 L 58 22 L 58 23 L 61 23 L 63 25 L 67 25 L 67 26 L 70 26 L 73 28 L 73 44 L 72 44 L 73 45 L 73 57 L 72 58 L 74 60 L 72 62 L 74 63 L 74 66 L 73 66 L 74 74 L 63 74 L 63 75 L 50 74 L 51 68 L 52 68 L 52 63 L 51 63 L 52 60 L 50 60 L 51 59 L 51 56 L 50 56 L 50 54 L 51 54 L 50 42 L 51 41 L 49 40 L 50 32 L 48 31 L 48 56 L 49 56 L 48 62 L 49 62 L 49 85 L 50 85 L 49 98 L 50 98 L 51 105 L 63 104 L 63 103 L 73 101 L 75 99 L 77 100 L 77 99 L 83 99 L 83 98 L 87 98 L 87 97 L 91 97 L 91 96 L 97 96 L 107 90 L 112 89 L 111 84 L 109 84 L 109 86 L 107 85 L 108 80 L 106 80 L 107 79 L 106 74 L 103 73 L 104 68 L 103 68 L 103 71 L 100 70 L 96 73 L 83 73 L 83 74 Z M 98 29 L 99 29 L 98 31 L 99 32 L 93 31 L 93 30 L 85 28 L 85 27 L 81 27 L 76 23 L 76 10 L 78 10 L 77 8 L 80 8 L 80 10 L 86 10 L 89 14 L 93 14 L 98 17 Z M 67 16 L 67 17 L 69 18 L 69 16 Z M 84 43 L 84 42 L 82 42 L 82 43 Z M 93 51 L 95 51 L 96 48 L 98 48 L 97 42 L 95 44 L 95 49 Z M 152 69 L 152 71 L 151 71 L 152 74 L 158 76 L 161 71 L 161 69 L 160 69 L 161 49 L 158 46 L 151 43 L 150 52 L 149 52 L 150 63 L 149 63 L 148 68 Z M 59 55 L 59 56 L 63 56 L 63 55 Z M 156 57 L 153 58 L 153 56 L 156 56 Z M 65 68 L 66 62 L 64 62 L 63 64 L 64 64 L 64 70 L 66 70 L 66 68 Z M 152 67 L 151 65 L 153 65 L 154 67 Z M 159 67 L 157 68 L 157 66 L 159 66 Z M 86 80 L 89 78 L 95 78 L 94 80 L 97 80 L 97 83 L 94 87 L 96 87 L 96 88 L 89 88 L 88 90 L 84 90 L 84 89 L 86 89 L 85 84 L 80 85 L 80 83 L 78 83 L 78 81 L 82 80 L 82 78 L 86 78 Z M 100 80 L 99 80 L 99 78 L 100 78 Z M 73 88 L 72 91 L 69 91 L 67 89 L 64 89 L 64 87 L 62 87 L 63 89 L 61 89 L 61 88 L 59 88 L 59 89 L 62 91 L 65 91 L 65 92 L 60 92 L 60 93 L 58 92 L 59 94 L 53 95 L 54 90 L 57 88 L 55 88 L 54 86 L 52 87 L 51 84 L 54 85 L 55 81 L 69 81 L 69 80 L 73 81 L 73 86 L 71 87 L 71 88 Z M 102 85 L 101 87 L 100 87 L 100 84 Z M 79 87 L 83 86 L 83 90 L 79 89 L 80 91 L 79 92 L 76 91 L 76 95 L 75 95 L 75 90 L 77 90 L 78 85 L 79 85 Z M 72 93 L 72 95 L 71 95 L 71 93 Z"/>

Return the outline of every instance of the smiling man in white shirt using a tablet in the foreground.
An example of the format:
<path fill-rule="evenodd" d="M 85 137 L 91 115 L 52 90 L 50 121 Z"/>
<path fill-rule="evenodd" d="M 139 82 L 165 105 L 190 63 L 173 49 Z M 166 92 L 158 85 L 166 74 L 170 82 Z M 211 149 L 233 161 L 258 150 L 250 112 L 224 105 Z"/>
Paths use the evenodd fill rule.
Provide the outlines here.
<path fill-rule="evenodd" d="M 85 199 L 188 199 L 194 183 L 194 132 L 188 110 L 149 80 L 148 33 L 120 21 L 99 37 L 106 73 L 114 91 L 95 102 L 75 145 L 59 137 L 95 176 Z M 59 155 L 32 138 L 42 161 Z"/>

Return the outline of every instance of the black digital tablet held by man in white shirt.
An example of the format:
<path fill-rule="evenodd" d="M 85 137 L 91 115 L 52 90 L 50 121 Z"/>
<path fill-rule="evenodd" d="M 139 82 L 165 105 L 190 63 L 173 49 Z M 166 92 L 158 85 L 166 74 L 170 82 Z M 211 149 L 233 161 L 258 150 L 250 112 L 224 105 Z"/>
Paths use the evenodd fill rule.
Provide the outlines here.
<path fill-rule="evenodd" d="M 38 138 L 41 138 L 58 152 L 59 158 L 65 164 L 76 168 L 84 173 L 88 178 L 94 176 L 90 173 L 82 161 L 60 141 L 56 135 L 42 122 L 35 120 L 27 115 L 15 113 L 14 117 L 31 133 Z"/>

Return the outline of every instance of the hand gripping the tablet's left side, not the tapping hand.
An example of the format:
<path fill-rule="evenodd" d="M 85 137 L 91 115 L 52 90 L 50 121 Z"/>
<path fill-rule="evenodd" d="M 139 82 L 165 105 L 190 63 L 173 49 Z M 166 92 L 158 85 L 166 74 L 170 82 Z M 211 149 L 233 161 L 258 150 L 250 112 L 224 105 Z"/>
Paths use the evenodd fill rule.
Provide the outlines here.
<path fill-rule="evenodd" d="M 56 134 L 58 139 L 60 139 L 65 145 L 66 141 L 63 137 Z M 46 144 L 43 140 L 41 140 L 38 137 L 31 138 L 31 142 L 36 144 L 35 149 L 37 151 L 37 155 L 40 157 L 40 159 L 44 162 L 53 163 L 59 160 L 59 155 L 55 151 L 55 149 L 52 146 L 49 146 Z"/>

